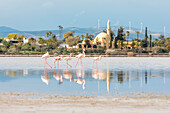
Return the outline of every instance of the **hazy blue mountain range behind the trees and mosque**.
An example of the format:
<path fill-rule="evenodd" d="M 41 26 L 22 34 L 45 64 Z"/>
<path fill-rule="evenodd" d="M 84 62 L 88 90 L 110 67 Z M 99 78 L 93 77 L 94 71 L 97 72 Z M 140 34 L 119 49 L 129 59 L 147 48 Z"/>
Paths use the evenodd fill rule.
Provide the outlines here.
<path fill-rule="evenodd" d="M 116 26 L 112 26 L 111 29 L 114 32 L 114 34 L 117 34 L 117 29 L 119 27 Z M 63 29 L 63 34 L 65 34 L 66 32 L 69 31 L 75 31 L 75 35 L 79 35 L 81 36 L 82 34 L 86 35 L 86 33 L 88 34 L 94 34 L 94 36 L 96 36 L 98 33 L 102 32 L 104 29 L 106 29 L 106 27 L 90 27 L 90 28 L 77 28 L 77 27 L 69 27 L 69 28 L 64 28 Z M 124 31 L 128 30 L 128 27 L 124 27 Z M 136 33 L 135 31 L 140 30 L 137 28 L 131 28 L 131 32 L 130 32 L 130 37 L 129 39 L 134 39 L 136 38 Z M 18 35 L 23 34 L 26 38 L 29 37 L 35 37 L 38 38 L 40 36 L 45 36 L 45 33 L 51 31 L 53 34 L 55 34 L 57 37 L 59 37 L 59 30 L 42 30 L 42 31 L 19 31 L 17 29 L 11 28 L 11 27 L 7 27 L 7 26 L 0 26 L 0 37 L 6 37 L 9 33 L 18 33 Z M 164 34 L 162 32 L 151 32 L 148 31 L 148 36 L 150 34 L 153 34 L 153 38 L 157 38 L 160 34 Z M 139 34 L 139 38 L 143 39 L 145 35 L 145 30 L 142 30 L 142 33 Z M 166 37 L 170 36 L 169 33 L 166 33 Z"/>

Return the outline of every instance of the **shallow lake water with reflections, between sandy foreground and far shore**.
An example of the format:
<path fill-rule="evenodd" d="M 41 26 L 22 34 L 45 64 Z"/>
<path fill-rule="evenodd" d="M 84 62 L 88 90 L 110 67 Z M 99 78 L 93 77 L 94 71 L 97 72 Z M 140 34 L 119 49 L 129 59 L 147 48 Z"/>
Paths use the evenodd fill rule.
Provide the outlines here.
<path fill-rule="evenodd" d="M 50 69 L 39 57 L 0 58 L 0 92 L 64 95 L 117 95 L 136 92 L 170 94 L 170 58 L 83 59 L 83 68 L 73 58 L 67 67 L 61 61 Z M 53 58 L 48 59 L 54 67 Z M 78 84 L 80 82 L 80 84 Z M 85 85 L 83 85 L 85 83 Z"/>

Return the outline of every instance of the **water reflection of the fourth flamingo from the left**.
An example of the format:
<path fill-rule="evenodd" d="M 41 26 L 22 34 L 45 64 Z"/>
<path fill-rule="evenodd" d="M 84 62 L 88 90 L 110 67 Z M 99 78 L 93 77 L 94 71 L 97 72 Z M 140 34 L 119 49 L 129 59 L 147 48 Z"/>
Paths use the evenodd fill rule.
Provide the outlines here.
<path fill-rule="evenodd" d="M 83 69 L 81 71 L 76 70 L 76 75 L 77 75 L 77 79 L 74 79 L 74 82 L 76 82 L 77 84 L 82 85 L 82 88 L 84 90 L 86 82 L 84 80 L 85 73 L 84 73 Z"/>

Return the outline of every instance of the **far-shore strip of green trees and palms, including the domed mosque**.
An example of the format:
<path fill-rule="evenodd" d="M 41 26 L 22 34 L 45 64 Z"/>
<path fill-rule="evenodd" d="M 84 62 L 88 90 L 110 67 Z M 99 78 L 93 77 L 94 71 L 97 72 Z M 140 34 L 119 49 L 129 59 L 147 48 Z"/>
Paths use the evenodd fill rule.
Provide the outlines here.
<path fill-rule="evenodd" d="M 145 28 L 145 36 L 139 38 L 140 30 L 125 30 L 118 28 L 117 33 L 112 31 L 110 21 L 107 29 L 97 34 L 82 34 L 75 36 L 74 31 L 63 34 L 63 27 L 58 26 L 59 33 L 46 32 L 40 37 L 25 37 L 17 33 L 10 33 L 7 37 L 0 38 L 0 56 L 41 56 L 46 51 L 51 56 L 74 55 L 85 53 L 89 57 L 103 55 L 107 57 L 169 57 L 170 37 L 160 34 L 153 39 Z M 131 39 L 130 34 L 135 33 L 136 38 Z"/>

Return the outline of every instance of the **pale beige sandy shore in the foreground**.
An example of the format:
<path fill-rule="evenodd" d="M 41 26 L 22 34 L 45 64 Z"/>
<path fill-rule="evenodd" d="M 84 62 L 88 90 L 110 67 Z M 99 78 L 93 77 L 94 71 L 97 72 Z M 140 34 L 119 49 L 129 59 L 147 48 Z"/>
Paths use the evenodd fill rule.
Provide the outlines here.
<path fill-rule="evenodd" d="M 0 93 L 0 113 L 170 113 L 170 96 L 137 95 L 91 97 Z"/>

